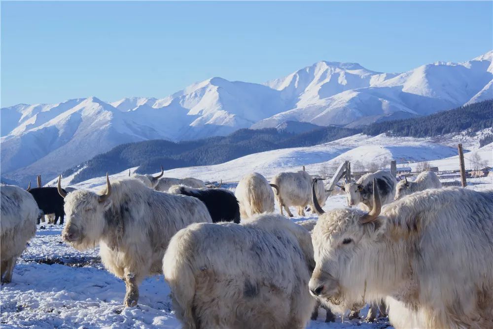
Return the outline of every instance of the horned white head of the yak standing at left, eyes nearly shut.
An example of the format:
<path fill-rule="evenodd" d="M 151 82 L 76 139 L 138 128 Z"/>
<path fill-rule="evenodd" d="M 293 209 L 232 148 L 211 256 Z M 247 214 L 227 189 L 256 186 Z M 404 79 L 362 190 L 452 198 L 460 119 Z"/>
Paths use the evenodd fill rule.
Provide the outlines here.
<path fill-rule="evenodd" d="M 74 248 L 94 248 L 105 228 L 105 211 L 111 206 L 111 184 L 106 174 L 106 192 L 102 195 L 87 190 L 76 190 L 69 194 L 62 190 L 58 178 L 58 193 L 64 198 L 67 224 L 62 239 Z"/>

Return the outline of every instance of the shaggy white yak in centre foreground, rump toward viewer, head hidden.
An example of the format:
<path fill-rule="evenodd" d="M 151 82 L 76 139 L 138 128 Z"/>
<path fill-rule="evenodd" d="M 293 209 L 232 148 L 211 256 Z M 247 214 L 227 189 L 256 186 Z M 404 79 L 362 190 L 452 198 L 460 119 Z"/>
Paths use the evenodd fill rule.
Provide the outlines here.
<path fill-rule="evenodd" d="M 193 224 L 163 259 L 184 329 L 305 328 L 315 299 L 310 234 L 280 215 L 241 224 Z"/>

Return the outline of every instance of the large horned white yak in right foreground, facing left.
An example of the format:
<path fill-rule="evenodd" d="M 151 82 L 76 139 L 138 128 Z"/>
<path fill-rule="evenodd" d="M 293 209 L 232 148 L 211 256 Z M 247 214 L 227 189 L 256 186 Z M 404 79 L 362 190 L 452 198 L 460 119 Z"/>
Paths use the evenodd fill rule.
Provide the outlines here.
<path fill-rule="evenodd" d="M 320 215 L 311 292 L 341 308 L 388 296 L 396 328 L 493 328 L 493 191 L 374 204 Z"/>

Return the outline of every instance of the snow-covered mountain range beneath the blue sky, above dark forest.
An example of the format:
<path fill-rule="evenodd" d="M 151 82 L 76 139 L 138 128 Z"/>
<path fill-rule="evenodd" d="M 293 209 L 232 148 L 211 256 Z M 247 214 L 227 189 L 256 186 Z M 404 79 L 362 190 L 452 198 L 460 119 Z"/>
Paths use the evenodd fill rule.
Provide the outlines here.
<path fill-rule="evenodd" d="M 493 98 L 492 54 L 400 74 L 321 61 L 265 84 L 216 77 L 165 98 L 2 108 L 2 175 L 56 175 L 116 145 L 149 139 L 196 139 L 287 121 L 355 126 L 427 115 Z"/>

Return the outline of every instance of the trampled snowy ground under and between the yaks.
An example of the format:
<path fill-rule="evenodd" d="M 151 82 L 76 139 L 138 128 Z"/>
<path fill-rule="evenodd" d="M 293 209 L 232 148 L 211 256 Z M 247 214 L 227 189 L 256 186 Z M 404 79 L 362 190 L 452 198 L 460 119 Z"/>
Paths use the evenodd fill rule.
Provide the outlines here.
<path fill-rule="evenodd" d="M 345 202 L 344 196 L 336 195 L 324 209 L 342 207 Z M 103 268 L 98 250 L 73 249 L 62 242 L 61 230 L 59 225 L 38 225 L 12 282 L 1 287 L 1 328 L 181 328 L 162 275 L 145 279 L 139 305 L 124 308 L 125 285 Z M 389 327 L 387 319 L 367 324 L 339 317 L 336 323 L 326 324 L 324 316 L 320 309 L 319 320 L 310 321 L 307 328 Z"/>

